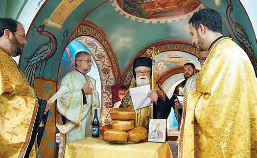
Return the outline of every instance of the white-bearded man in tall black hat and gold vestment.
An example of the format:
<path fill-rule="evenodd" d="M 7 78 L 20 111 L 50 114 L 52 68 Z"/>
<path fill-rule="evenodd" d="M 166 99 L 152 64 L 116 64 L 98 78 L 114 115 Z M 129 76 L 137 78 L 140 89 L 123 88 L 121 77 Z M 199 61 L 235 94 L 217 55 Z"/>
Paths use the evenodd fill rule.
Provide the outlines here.
<path fill-rule="evenodd" d="M 150 84 L 150 78 L 152 76 L 152 59 L 147 57 L 139 57 L 134 60 L 133 63 L 133 74 L 135 82 L 132 82 L 130 88 L 140 87 Z M 155 84 L 154 90 L 149 91 L 148 96 L 153 105 L 153 112 L 150 112 L 150 107 L 144 107 L 136 110 L 136 126 L 144 126 L 146 129 L 149 127 L 150 113 L 153 113 L 153 118 L 167 119 L 170 109 L 169 99 L 162 89 L 159 88 L 158 84 Z M 134 109 L 130 93 L 123 98 L 121 106 L 126 108 L 130 106 Z"/>

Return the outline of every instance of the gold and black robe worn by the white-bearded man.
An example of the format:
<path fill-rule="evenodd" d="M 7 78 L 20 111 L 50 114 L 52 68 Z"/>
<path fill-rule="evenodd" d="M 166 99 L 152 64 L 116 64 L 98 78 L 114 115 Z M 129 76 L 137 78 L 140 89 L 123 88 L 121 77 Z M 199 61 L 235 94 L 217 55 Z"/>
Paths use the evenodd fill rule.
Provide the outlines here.
<path fill-rule="evenodd" d="M 150 86 L 151 86 L 151 84 L 150 84 Z M 135 81 L 131 83 L 129 88 L 134 88 L 134 87 L 136 87 L 136 82 Z M 158 117 L 157 114 L 160 111 L 160 117 L 162 119 L 166 119 L 167 114 L 166 113 L 163 114 L 163 111 L 166 111 L 166 110 L 164 110 L 164 108 L 168 107 L 168 103 L 169 103 L 168 98 L 166 97 L 164 91 L 161 90 L 158 87 L 158 84 L 155 84 L 154 90 L 158 91 L 158 101 L 157 101 L 157 105 L 154 103 L 154 107 L 153 107 L 154 112 L 152 112 L 153 117 L 157 118 Z M 122 103 L 121 103 L 121 106 L 123 108 L 127 108 L 128 105 L 130 105 L 130 109 L 134 109 L 132 99 L 131 99 L 131 96 L 130 96 L 129 92 L 122 99 Z M 162 107 L 163 107 L 163 109 L 162 109 Z M 136 111 L 135 126 L 144 126 L 144 127 L 147 128 L 148 125 L 149 125 L 149 119 L 150 119 L 150 106 L 141 108 L 141 109 Z"/>

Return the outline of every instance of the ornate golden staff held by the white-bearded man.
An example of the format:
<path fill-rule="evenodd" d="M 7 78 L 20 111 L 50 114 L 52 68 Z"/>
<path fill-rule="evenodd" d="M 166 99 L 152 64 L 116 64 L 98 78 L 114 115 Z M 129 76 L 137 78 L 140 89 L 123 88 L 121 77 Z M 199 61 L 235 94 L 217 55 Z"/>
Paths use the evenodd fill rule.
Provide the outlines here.
<path fill-rule="evenodd" d="M 155 50 L 154 48 L 154 46 L 152 46 L 151 47 L 152 48 L 152 50 L 151 49 L 147 49 L 147 54 L 148 55 L 151 55 L 152 56 L 152 84 L 151 84 L 151 90 L 154 90 L 154 88 L 155 88 L 155 81 L 154 81 L 154 63 L 155 63 L 155 55 L 158 55 L 159 53 L 160 53 L 160 51 L 157 49 L 157 50 Z M 152 101 L 151 102 L 151 106 L 150 106 L 150 113 L 149 113 L 149 111 L 148 111 L 148 113 L 149 113 L 149 115 L 151 116 L 151 118 L 153 118 L 153 107 L 154 107 L 154 102 Z"/>

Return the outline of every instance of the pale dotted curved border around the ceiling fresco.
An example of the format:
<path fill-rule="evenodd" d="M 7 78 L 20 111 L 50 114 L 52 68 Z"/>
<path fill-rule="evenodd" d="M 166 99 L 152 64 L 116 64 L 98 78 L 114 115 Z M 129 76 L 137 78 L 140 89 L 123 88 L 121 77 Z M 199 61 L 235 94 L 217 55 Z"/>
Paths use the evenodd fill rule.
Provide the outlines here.
<path fill-rule="evenodd" d="M 117 0 L 111 0 L 112 6 L 115 8 L 115 10 L 122 16 L 125 16 L 125 18 L 130 19 L 132 21 L 142 22 L 142 23 L 174 23 L 178 22 L 183 19 L 187 19 L 188 16 L 192 16 L 194 12 L 199 11 L 202 8 L 205 8 L 206 6 L 204 4 L 200 4 L 195 10 L 192 12 L 189 12 L 183 16 L 175 17 L 175 18 L 169 18 L 169 19 L 144 19 L 137 16 L 133 16 L 127 12 L 125 12 L 117 3 Z"/>

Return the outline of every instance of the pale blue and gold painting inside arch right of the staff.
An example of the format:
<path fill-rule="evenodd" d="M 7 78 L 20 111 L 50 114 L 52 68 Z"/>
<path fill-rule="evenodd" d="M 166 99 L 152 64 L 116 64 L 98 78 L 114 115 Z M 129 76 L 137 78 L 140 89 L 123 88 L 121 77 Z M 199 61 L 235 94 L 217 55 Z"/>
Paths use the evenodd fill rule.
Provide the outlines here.
<path fill-rule="evenodd" d="M 159 80 L 169 69 L 183 67 L 188 62 L 193 63 L 196 69 L 200 69 L 197 57 L 183 51 L 162 52 L 155 56 L 155 61 L 154 78 L 156 80 Z"/>

